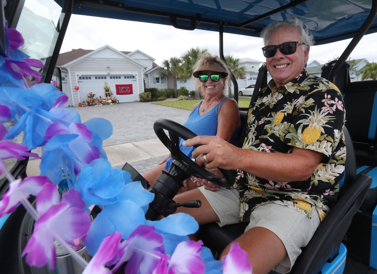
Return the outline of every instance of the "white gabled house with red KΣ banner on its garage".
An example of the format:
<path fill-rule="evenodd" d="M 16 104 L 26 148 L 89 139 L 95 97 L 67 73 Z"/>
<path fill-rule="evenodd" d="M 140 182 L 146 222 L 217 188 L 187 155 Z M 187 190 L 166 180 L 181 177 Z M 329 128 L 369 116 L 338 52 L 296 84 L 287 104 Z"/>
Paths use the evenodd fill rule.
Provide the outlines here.
<path fill-rule="evenodd" d="M 152 87 L 154 82 L 156 87 L 164 87 L 164 80 L 157 80 L 158 65 L 153 61 L 153 57 L 140 50 L 118 51 L 104 45 L 97 50 L 79 48 L 61 53 L 57 66 L 61 68 L 63 92 L 69 97 L 69 105 L 77 106 L 87 100 L 89 92 L 104 97 L 105 82 L 121 103 L 138 101 L 144 88 Z"/>

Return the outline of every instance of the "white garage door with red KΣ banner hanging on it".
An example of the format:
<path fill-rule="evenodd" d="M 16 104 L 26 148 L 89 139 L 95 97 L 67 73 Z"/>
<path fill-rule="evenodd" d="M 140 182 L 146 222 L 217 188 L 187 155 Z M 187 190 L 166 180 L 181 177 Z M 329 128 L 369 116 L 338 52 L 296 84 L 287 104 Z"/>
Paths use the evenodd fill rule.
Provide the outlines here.
<path fill-rule="evenodd" d="M 112 97 L 116 96 L 120 103 L 137 101 L 139 92 L 136 80 L 136 76 L 133 75 L 81 75 L 78 77 L 80 101 L 86 101 L 89 92 L 94 93 L 95 97 L 105 97 L 105 82 L 113 93 Z M 132 94 L 130 89 L 127 91 L 124 89 L 125 92 L 122 92 L 123 94 L 116 94 L 115 85 L 128 85 L 127 87 L 132 85 Z"/>

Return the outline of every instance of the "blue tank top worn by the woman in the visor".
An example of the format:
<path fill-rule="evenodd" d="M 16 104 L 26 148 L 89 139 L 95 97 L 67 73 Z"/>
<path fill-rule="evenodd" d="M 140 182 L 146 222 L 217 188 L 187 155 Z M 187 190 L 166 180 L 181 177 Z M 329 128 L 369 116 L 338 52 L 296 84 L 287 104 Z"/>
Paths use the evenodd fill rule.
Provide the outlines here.
<path fill-rule="evenodd" d="M 186 123 L 183 125 L 194 132 L 196 135 L 208 135 L 208 136 L 215 136 L 217 133 L 217 119 L 219 115 L 219 104 L 222 105 L 225 103 L 226 100 L 230 99 L 229 97 L 225 98 L 225 100 L 220 100 L 218 104 L 216 104 L 213 109 L 208 111 L 204 115 L 199 115 L 199 107 L 203 103 L 201 101 L 198 106 L 190 113 L 189 118 L 187 119 Z M 237 144 L 238 132 L 241 125 L 238 125 L 236 131 L 234 132 L 230 143 L 232 145 Z M 192 152 L 195 150 L 195 147 L 184 147 L 182 142 L 184 140 L 179 138 L 179 149 L 186 154 L 189 158 L 192 157 Z M 165 168 L 167 170 L 170 169 L 170 165 L 172 164 L 172 157 L 167 159 Z"/>

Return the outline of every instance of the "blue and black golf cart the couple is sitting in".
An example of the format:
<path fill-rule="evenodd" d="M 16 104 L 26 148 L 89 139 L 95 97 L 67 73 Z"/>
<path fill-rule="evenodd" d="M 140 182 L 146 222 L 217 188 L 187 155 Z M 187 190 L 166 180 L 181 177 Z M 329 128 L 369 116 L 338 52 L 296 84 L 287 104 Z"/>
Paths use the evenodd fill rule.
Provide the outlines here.
<path fill-rule="evenodd" d="M 28 1 L 28 0 L 25 0 Z M 24 1 L 0 1 L 2 18 L 8 20 L 9 27 L 16 28 L 24 7 Z M 56 29 L 43 29 L 39 33 L 49 33 L 50 44 L 46 47 L 45 67 L 42 70 L 44 82 L 50 83 L 64 35 L 72 14 L 147 23 L 166 24 L 184 30 L 210 30 L 219 33 L 219 55 L 224 60 L 223 33 L 259 36 L 267 24 L 285 20 L 296 15 L 314 35 L 316 45 L 353 38 L 340 58 L 323 67 L 322 77 L 333 82 L 342 91 L 346 106 L 346 172 L 336 204 L 320 224 L 303 253 L 297 259 L 290 273 L 377 273 L 377 81 L 350 82 L 346 59 L 363 35 L 377 31 L 377 1 L 337 0 L 262 0 L 262 1 L 131 1 L 111 0 L 56 1 L 40 2 L 48 10 L 52 4 L 61 8 Z M 6 5 L 5 5 L 6 4 Z M 4 24 L 4 22 L 3 22 Z M 0 39 L 4 37 L 4 27 L 0 29 Z M 34 35 L 34 33 L 32 33 Z M 1 40 L 4 48 L 4 39 Z M 238 100 L 238 85 L 232 79 L 234 97 Z M 267 83 L 265 67 L 259 70 L 254 95 Z M 254 96 L 251 101 L 254 100 Z M 247 109 L 240 109 L 244 122 Z M 169 131 L 168 138 L 164 129 Z M 168 215 L 176 208 L 172 198 L 180 187 L 180 182 L 192 172 L 210 179 L 222 186 L 233 185 L 234 178 L 224 171 L 224 178 L 214 177 L 201 170 L 178 150 L 178 136 L 191 138 L 192 132 L 168 120 L 157 121 L 155 131 L 161 141 L 172 152 L 175 164 L 169 174 L 162 174 L 153 187 L 156 195 L 147 215 L 150 219 L 157 215 Z M 242 140 L 242 138 L 240 138 Z M 27 177 L 28 160 L 18 161 L 11 168 L 14 177 Z M 139 174 L 132 171 L 134 179 Z M 8 189 L 6 179 L 0 181 L 0 197 Z M 199 206 L 197 201 L 179 206 Z M 171 212 L 167 212 L 170 209 Z M 21 257 L 25 237 L 31 229 L 30 221 L 25 220 L 25 210 L 20 206 L 4 221 L 0 230 L 0 257 L 6 258 L 1 266 L 2 273 L 39 273 L 28 267 Z M 242 224 L 218 227 L 216 224 L 202 226 L 199 238 L 213 254 L 222 249 L 243 231 Z M 23 229 L 29 229 L 25 232 Z M 25 235 L 26 234 L 26 235 Z M 40 272 L 42 273 L 42 272 Z"/>

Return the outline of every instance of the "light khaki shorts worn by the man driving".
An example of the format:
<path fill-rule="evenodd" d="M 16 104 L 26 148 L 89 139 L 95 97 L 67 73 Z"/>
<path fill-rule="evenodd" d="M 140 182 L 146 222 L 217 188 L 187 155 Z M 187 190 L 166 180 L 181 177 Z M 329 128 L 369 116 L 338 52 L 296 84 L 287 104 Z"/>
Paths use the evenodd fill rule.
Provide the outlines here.
<path fill-rule="evenodd" d="M 239 191 L 236 188 L 220 188 L 213 192 L 200 187 L 220 221 L 219 226 L 239 222 Z M 251 212 L 250 223 L 245 232 L 253 227 L 264 227 L 276 234 L 283 242 L 288 256 L 273 269 L 279 273 L 291 270 L 301 248 L 305 247 L 319 226 L 319 216 L 314 210 L 311 218 L 280 204 L 269 203 L 258 206 Z"/>

